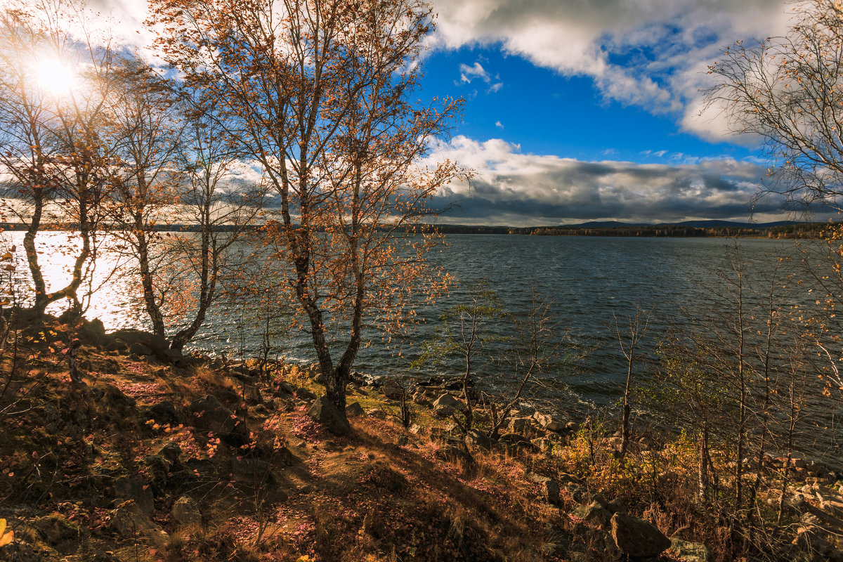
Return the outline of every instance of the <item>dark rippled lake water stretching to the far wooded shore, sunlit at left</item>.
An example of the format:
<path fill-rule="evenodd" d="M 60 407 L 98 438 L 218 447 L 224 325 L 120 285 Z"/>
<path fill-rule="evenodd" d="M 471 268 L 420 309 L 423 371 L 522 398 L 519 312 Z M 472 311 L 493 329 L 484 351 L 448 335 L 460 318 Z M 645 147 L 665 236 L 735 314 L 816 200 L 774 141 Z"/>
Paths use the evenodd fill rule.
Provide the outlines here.
<path fill-rule="evenodd" d="M 23 233 L 7 233 L 19 246 Z M 66 233 L 48 233 L 43 249 L 50 255 L 52 244 L 61 244 Z M 787 261 L 778 270 L 781 286 L 795 291 L 788 303 L 813 306 L 807 287 L 786 283 L 787 274 L 796 272 L 800 252 L 819 244 L 792 240 L 744 238 L 737 242 L 725 238 L 587 238 L 541 237 L 519 235 L 455 234 L 447 237 L 448 247 L 432 260 L 450 271 L 464 284 L 486 279 L 497 292 L 507 310 L 518 313 L 529 305 L 529 288 L 534 283 L 541 295 L 552 299 L 552 311 L 560 327 L 560 334 L 576 340 L 588 356 L 575 372 L 559 372 L 566 383 L 564 409 L 588 409 L 592 406 L 614 404 L 622 392 L 626 362 L 620 353 L 613 323 L 617 318 L 624 324 L 636 310 L 636 305 L 651 311 L 647 338 L 642 344 L 645 355 L 652 356 L 654 346 L 669 325 L 678 322 L 692 329 L 706 329 L 700 317 L 706 312 L 728 310 L 728 292 L 717 270 L 728 270 L 728 259 L 738 249 L 745 262 L 747 276 L 756 283 L 760 297 L 747 292 L 749 306 L 758 306 L 769 289 L 771 272 L 779 258 Z M 737 246 L 736 246 L 737 244 Z M 54 256 L 51 256 L 53 258 Z M 67 260 L 67 259 L 66 259 Z M 69 260 L 67 260 L 69 261 Z M 66 261 L 66 265 L 67 265 Z M 23 266 L 24 261 L 19 265 Z M 98 268 L 100 275 L 102 270 Z M 61 267 L 49 272 L 60 278 Z M 765 289 L 765 287 L 767 287 Z M 448 297 L 435 306 L 420 308 L 421 323 L 405 338 L 386 344 L 378 334 L 370 334 L 373 342 L 361 350 L 356 369 L 372 375 L 459 374 L 459 364 L 421 367 L 411 370 L 411 361 L 418 358 L 421 345 L 441 334 L 439 315 L 459 302 L 465 302 L 467 289 L 455 286 Z M 128 289 L 120 279 L 110 280 L 95 295 L 87 316 L 99 317 L 106 329 L 144 327 L 142 318 L 128 313 L 137 293 Z M 227 309 L 226 309 L 227 308 Z M 228 306 L 209 314 L 201 332 L 189 346 L 192 349 L 219 352 L 228 356 L 255 356 L 260 351 L 262 326 L 254 318 L 254 308 Z M 502 332 L 508 327 L 501 326 Z M 288 360 L 315 360 L 309 348 L 309 337 L 303 333 L 279 334 L 273 340 L 276 350 Z M 505 347 L 492 343 L 487 356 L 494 358 Z M 477 372 L 497 372 L 508 367 L 495 361 L 478 361 Z M 576 404 L 570 404 L 574 400 Z"/>

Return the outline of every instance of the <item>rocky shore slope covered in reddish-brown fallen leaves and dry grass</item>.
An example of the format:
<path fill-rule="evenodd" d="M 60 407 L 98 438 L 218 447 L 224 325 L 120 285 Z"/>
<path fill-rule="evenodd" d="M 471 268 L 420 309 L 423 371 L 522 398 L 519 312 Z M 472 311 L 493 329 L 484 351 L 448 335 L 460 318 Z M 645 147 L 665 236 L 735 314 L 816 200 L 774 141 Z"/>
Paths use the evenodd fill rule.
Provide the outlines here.
<path fill-rule="evenodd" d="M 695 521 L 692 497 L 658 495 L 693 476 L 670 463 L 675 442 L 641 438 L 617 464 L 618 436 L 529 408 L 493 438 L 486 409 L 470 431 L 454 423 L 454 385 L 390 378 L 349 386 L 346 424 L 316 369 L 184 355 L 96 321 L 64 329 L 30 329 L 54 335 L 26 344 L 24 369 L 4 367 L 0 518 L 13 538 L 0 559 L 728 559 L 733 529 Z M 70 346 L 51 342 L 72 338 L 78 384 Z M 778 552 L 843 560 L 840 474 L 790 463 Z M 651 470 L 652 490 L 629 484 Z M 781 488 L 759 493 L 772 505 Z"/>

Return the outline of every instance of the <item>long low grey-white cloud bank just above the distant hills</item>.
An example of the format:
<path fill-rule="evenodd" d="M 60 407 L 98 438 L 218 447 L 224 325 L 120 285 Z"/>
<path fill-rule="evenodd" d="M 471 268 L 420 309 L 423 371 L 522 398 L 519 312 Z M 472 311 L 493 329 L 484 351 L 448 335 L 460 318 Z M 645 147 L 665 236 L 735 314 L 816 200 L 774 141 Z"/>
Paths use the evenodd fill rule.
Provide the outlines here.
<path fill-rule="evenodd" d="M 459 203 L 443 219 L 456 223 L 559 224 L 589 220 L 679 222 L 746 221 L 750 213 L 778 220 L 781 200 L 749 203 L 766 169 L 751 162 L 708 159 L 668 165 L 525 154 L 517 144 L 457 136 L 436 147 L 432 160 L 450 158 L 475 170 L 470 183 L 449 185 L 436 205 Z"/>

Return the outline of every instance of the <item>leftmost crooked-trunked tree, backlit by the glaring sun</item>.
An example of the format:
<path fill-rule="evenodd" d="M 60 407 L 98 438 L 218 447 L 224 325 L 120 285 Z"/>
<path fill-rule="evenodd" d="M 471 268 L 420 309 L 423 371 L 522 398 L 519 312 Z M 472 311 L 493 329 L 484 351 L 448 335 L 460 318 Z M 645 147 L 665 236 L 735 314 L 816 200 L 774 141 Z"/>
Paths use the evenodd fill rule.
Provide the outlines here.
<path fill-rule="evenodd" d="M 33 311 L 62 298 L 78 306 L 78 290 L 96 248 L 101 204 L 110 188 L 112 147 L 100 135 L 108 109 L 111 51 L 90 35 L 72 36 L 67 24 L 85 12 L 72 3 L 37 3 L 0 14 L 0 165 L 6 175 L 3 207 L 26 227 Z M 54 91 L 39 68 L 76 67 L 78 88 Z M 43 71 L 42 71 L 43 73 Z M 45 228 L 78 231 L 71 279 L 47 287 L 36 239 Z"/>

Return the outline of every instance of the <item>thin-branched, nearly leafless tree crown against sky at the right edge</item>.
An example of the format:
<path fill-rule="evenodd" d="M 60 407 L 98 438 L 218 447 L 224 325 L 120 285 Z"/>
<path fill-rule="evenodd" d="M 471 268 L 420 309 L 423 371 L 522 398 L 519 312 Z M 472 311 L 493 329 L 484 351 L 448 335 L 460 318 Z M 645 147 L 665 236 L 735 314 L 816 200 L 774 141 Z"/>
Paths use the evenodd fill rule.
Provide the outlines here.
<path fill-rule="evenodd" d="M 771 157 L 767 191 L 808 210 L 840 210 L 843 195 L 843 6 L 794 3 L 787 35 L 738 41 L 709 67 L 706 92 L 733 131 L 760 136 Z"/>

